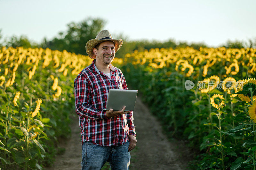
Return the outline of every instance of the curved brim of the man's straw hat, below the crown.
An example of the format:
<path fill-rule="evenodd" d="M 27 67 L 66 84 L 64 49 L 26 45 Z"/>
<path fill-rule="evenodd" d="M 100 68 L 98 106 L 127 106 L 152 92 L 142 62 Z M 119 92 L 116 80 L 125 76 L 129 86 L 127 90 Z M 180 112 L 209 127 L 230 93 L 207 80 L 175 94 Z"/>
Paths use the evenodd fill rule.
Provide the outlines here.
<path fill-rule="evenodd" d="M 114 44 L 115 44 L 115 52 L 117 52 L 117 51 L 121 48 L 121 46 L 122 46 L 122 44 L 123 44 L 123 42 L 124 42 L 122 39 L 120 39 L 120 40 L 113 40 L 113 39 L 109 39 L 109 40 L 92 39 L 92 40 L 89 40 L 89 41 L 87 41 L 86 44 L 85 44 L 85 51 L 86 51 L 86 53 L 88 54 L 88 56 L 89 56 L 90 58 L 92 58 L 92 59 L 95 59 L 95 58 L 96 58 L 96 56 L 95 56 L 94 53 L 93 53 L 93 48 L 94 48 L 97 44 L 99 44 L 99 43 L 101 43 L 101 42 L 103 42 L 103 41 L 113 41 Z"/>

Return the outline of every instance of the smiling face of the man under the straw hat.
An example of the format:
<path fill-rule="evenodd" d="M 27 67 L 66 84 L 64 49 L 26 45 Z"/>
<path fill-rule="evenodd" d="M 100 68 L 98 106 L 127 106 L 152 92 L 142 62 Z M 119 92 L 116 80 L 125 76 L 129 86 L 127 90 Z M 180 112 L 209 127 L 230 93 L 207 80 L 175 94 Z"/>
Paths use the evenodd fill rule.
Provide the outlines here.
<path fill-rule="evenodd" d="M 99 49 L 93 48 L 97 62 L 103 65 L 109 65 L 115 57 L 115 46 L 112 41 L 104 41 L 100 43 Z"/>

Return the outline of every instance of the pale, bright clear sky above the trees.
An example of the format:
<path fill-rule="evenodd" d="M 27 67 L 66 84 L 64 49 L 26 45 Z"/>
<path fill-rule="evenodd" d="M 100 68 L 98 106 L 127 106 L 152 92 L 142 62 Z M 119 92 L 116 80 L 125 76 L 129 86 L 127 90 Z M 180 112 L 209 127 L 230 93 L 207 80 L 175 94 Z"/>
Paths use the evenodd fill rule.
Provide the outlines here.
<path fill-rule="evenodd" d="M 66 31 L 70 22 L 92 17 L 106 20 L 103 29 L 129 40 L 218 47 L 228 40 L 256 39 L 255 6 L 255 0 L 0 0 L 0 29 L 4 38 L 26 35 L 41 42 Z"/>

